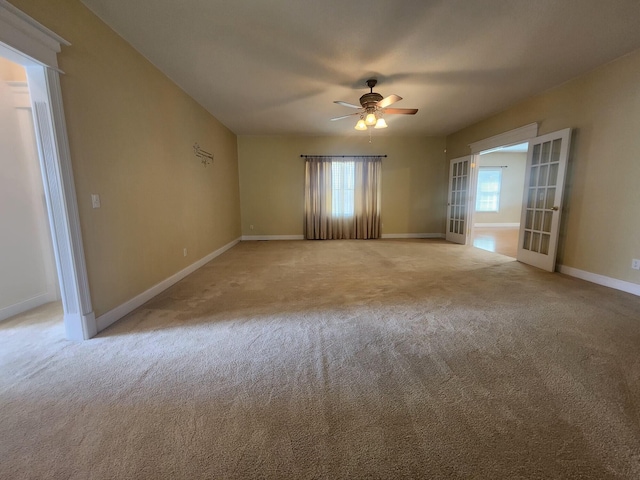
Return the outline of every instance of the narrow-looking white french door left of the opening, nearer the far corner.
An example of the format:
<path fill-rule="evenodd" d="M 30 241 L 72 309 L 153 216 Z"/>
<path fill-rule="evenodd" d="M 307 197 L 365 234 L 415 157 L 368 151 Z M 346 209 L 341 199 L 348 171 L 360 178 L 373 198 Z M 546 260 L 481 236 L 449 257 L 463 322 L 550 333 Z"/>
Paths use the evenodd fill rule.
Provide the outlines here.
<path fill-rule="evenodd" d="M 469 186 L 471 185 L 471 156 L 454 158 L 449 165 L 449 194 L 447 196 L 447 241 L 467 243 L 469 218 Z"/>

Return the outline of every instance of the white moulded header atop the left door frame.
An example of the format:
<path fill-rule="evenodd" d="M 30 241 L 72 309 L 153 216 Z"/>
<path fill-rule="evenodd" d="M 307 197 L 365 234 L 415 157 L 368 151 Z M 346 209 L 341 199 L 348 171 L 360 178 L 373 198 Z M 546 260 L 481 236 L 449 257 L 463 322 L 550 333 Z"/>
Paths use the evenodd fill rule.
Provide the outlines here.
<path fill-rule="evenodd" d="M 57 54 L 61 45 L 71 45 L 6 0 L 0 0 L 0 42 L 17 55 L 27 56 L 33 62 L 54 70 L 58 69 Z M 13 58 L 10 60 L 15 61 Z"/>

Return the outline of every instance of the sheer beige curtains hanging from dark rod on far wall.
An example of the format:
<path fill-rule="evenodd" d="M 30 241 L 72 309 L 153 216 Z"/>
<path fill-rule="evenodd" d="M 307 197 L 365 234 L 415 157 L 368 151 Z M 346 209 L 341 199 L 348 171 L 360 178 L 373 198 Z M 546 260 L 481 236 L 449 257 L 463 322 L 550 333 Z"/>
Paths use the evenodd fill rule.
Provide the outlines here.
<path fill-rule="evenodd" d="M 354 162 L 353 212 L 333 208 L 333 162 Z M 380 237 L 381 157 L 307 157 L 305 166 L 305 220 L 307 239 Z"/>

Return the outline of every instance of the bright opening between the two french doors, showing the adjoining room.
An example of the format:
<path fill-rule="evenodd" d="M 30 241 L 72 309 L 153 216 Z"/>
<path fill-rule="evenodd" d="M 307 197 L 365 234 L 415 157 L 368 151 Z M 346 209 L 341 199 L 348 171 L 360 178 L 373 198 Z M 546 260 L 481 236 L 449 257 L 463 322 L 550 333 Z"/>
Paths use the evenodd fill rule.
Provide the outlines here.
<path fill-rule="evenodd" d="M 471 203 L 471 244 L 516 258 L 529 143 L 475 155 L 475 197 Z"/>

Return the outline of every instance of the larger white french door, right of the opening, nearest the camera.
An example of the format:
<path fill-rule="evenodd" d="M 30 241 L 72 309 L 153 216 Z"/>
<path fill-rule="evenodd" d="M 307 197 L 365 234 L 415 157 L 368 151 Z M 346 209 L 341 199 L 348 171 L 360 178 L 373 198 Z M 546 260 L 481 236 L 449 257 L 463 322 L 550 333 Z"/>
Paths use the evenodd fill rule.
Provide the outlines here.
<path fill-rule="evenodd" d="M 571 129 L 529 142 L 517 258 L 553 272 Z"/>

